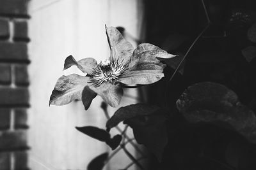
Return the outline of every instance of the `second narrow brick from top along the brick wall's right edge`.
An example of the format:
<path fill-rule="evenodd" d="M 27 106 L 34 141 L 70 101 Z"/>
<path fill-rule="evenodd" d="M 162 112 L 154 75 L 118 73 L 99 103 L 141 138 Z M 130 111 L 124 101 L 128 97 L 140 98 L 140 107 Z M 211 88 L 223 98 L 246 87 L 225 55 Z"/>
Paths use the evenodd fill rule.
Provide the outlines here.
<path fill-rule="evenodd" d="M 29 85 L 28 66 L 26 66 L 26 65 L 16 65 L 15 66 L 15 84 L 16 85 Z"/>

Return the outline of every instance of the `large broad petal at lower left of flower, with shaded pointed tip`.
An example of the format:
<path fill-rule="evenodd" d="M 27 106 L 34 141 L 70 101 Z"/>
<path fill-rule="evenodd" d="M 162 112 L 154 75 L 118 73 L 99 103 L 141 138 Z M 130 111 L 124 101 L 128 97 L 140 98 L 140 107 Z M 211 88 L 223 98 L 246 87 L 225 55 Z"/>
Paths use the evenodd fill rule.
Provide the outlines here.
<path fill-rule="evenodd" d="M 81 100 L 84 86 L 88 84 L 88 80 L 88 77 L 77 74 L 61 76 L 52 90 L 49 104 L 60 106 L 74 100 Z"/>

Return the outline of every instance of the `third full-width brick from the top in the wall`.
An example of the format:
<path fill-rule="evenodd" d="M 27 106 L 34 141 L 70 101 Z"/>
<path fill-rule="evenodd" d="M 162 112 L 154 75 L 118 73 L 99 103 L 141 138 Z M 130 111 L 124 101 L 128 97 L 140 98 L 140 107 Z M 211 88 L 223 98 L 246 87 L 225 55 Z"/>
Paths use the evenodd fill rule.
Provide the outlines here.
<path fill-rule="evenodd" d="M 0 105 L 26 105 L 28 106 L 29 92 L 27 88 L 2 87 L 0 88 Z"/>

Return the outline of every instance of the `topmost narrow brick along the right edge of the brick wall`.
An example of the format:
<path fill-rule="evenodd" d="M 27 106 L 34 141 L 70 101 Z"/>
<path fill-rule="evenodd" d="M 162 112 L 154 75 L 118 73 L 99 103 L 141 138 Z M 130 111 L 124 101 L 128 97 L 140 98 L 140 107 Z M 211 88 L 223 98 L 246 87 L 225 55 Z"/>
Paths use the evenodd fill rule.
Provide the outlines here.
<path fill-rule="evenodd" d="M 26 21 L 14 22 L 14 40 L 29 41 L 28 22 Z"/>

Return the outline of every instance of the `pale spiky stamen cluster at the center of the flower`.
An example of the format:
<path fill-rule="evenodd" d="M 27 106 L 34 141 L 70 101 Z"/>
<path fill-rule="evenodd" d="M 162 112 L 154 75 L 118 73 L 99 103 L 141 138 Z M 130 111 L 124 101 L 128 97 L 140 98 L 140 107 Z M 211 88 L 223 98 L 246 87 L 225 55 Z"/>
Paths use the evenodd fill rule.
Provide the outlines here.
<path fill-rule="evenodd" d="M 90 74 L 90 81 L 94 83 L 95 87 L 98 87 L 107 81 L 113 83 L 117 80 L 118 76 L 124 73 L 126 68 L 127 64 L 118 64 L 118 59 L 101 61 Z"/>

